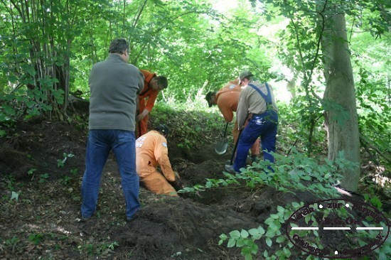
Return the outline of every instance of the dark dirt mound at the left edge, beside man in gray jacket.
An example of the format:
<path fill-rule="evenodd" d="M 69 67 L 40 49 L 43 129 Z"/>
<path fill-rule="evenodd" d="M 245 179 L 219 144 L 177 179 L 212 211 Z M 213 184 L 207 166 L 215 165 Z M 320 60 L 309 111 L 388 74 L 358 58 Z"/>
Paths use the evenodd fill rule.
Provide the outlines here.
<path fill-rule="evenodd" d="M 85 140 L 85 135 L 70 124 L 43 119 L 18 123 L 1 139 L 0 178 L 12 175 L 24 180 L 37 173 L 60 178 L 84 165 Z M 66 163 L 59 165 L 58 160 Z"/>

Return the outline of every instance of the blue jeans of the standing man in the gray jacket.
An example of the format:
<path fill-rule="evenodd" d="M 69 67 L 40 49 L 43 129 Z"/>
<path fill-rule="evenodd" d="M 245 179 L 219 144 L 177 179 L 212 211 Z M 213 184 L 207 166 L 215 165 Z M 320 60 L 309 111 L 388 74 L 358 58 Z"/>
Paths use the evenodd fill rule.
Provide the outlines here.
<path fill-rule="evenodd" d="M 113 150 L 122 180 L 127 219 L 140 209 L 134 131 L 96 129 L 88 133 L 85 173 L 82 179 L 82 217 L 94 214 L 103 167 Z"/>

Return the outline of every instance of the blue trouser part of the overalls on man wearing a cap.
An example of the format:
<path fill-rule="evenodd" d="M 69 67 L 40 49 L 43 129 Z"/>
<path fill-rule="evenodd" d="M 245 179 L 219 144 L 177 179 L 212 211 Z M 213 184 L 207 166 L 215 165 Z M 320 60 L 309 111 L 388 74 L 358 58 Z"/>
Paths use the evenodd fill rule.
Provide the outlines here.
<path fill-rule="evenodd" d="M 274 163 L 274 157 L 268 153 L 276 150 L 277 136 L 277 112 L 272 110 L 263 114 L 253 115 L 249 124 L 243 129 L 237 143 L 237 152 L 233 168 L 239 172 L 240 168 L 246 165 L 247 153 L 252 144 L 261 136 L 262 151 L 264 151 L 264 161 Z"/>

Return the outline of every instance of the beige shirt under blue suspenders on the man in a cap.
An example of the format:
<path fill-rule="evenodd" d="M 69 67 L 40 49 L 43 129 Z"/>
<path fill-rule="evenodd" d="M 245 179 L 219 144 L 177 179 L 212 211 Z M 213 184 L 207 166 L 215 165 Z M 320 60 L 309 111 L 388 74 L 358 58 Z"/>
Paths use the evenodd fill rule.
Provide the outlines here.
<path fill-rule="evenodd" d="M 249 84 L 255 85 L 259 88 L 265 95 L 267 95 L 267 88 L 264 83 L 261 83 L 259 81 L 250 81 Z M 269 85 L 269 84 L 268 84 Z M 274 94 L 272 87 L 269 85 L 269 90 L 272 95 L 272 107 L 273 110 L 278 112 L 277 104 L 274 99 Z M 267 104 L 264 101 L 264 98 L 257 92 L 257 90 L 254 90 L 252 87 L 248 86 L 245 87 L 242 92 L 240 93 L 239 97 L 239 104 L 237 105 L 237 125 L 239 129 L 245 124 L 247 114 L 262 114 L 266 112 L 267 110 Z"/>

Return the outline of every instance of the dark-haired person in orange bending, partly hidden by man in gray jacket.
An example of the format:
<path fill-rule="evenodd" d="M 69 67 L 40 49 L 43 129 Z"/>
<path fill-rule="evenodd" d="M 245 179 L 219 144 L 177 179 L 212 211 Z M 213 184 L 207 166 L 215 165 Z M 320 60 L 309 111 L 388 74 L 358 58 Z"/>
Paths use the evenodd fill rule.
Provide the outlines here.
<path fill-rule="evenodd" d="M 136 138 L 146 134 L 148 127 L 148 114 L 154 107 L 156 97 L 159 91 L 164 90 L 168 86 L 167 78 L 157 76 L 156 73 L 147 70 L 140 70 L 145 77 L 144 89 L 139 94 L 139 114 L 136 117 L 138 122 L 136 127 Z"/>

